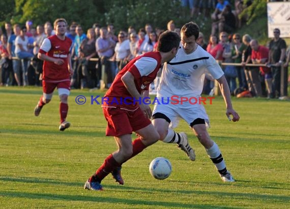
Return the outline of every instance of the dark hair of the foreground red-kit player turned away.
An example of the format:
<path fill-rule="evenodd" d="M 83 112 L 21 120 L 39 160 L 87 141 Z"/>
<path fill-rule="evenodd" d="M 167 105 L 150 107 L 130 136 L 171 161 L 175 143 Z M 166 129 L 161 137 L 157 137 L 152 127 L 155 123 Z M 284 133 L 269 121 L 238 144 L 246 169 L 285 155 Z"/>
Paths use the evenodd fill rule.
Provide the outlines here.
<path fill-rule="evenodd" d="M 160 34 L 157 50 L 160 52 L 169 52 L 173 48 L 178 48 L 180 44 L 180 36 L 175 31 L 166 30 Z"/>

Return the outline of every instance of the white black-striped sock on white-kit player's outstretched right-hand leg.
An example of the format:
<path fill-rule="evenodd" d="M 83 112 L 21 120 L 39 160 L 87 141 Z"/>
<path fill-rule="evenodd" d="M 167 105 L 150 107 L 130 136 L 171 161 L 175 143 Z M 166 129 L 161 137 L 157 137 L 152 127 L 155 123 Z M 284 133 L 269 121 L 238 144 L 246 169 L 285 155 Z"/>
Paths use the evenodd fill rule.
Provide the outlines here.
<path fill-rule="evenodd" d="M 225 174 L 227 170 L 218 145 L 214 142 L 214 145 L 211 148 L 206 149 L 206 151 L 208 153 L 209 158 L 215 164 L 215 167 L 219 171 L 219 173 L 222 175 Z"/>

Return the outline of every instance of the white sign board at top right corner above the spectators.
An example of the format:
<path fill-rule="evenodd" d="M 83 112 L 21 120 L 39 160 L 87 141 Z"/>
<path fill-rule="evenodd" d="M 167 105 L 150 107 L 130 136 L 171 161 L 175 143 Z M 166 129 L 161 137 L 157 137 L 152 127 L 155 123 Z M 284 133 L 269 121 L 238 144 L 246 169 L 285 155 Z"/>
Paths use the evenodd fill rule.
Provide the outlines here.
<path fill-rule="evenodd" d="M 274 28 L 280 29 L 280 37 L 290 37 L 290 2 L 267 3 L 268 37 L 273 38 Z"/>

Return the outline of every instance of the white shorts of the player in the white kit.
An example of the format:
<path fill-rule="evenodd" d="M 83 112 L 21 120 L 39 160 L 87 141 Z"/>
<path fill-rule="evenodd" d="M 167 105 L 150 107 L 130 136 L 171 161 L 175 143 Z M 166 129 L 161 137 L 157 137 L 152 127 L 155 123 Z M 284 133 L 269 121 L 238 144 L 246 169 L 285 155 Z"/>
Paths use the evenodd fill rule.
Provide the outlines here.
<path fill-rule="evenodd" d="M 197 118 L 205 119 L 206 126 L 210 126 L 209 116 L 206 113 L 205 107 L 202 105 L 194 105 L 192 108 L 182 109 L 181 106 L 172 105 L 170 103 L 168 105 L 156 104 L 152 115 L 155 113 L 162 113 L 170 119 L 169 128 L 176 128 L 180 119 L 185 120 L 190 126 Z"/>

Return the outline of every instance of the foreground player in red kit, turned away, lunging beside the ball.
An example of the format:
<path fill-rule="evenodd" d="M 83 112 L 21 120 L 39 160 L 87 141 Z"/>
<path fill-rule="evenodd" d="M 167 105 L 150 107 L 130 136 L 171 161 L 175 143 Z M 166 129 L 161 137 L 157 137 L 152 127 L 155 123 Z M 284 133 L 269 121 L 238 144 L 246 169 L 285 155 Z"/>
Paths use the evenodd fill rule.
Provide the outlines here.
<path fill-rule="evenodd" d="M 143 98 L 148 97 L 149 85 L 155 79 L 161 64 L 175 57 L 179 43 L 178 33 L 163 32 L 156 52 L 148 52 L 132 59 L 116 76 L 105 94 L 102 108 L 108 123 L 106 135 L 114 136 L 119 149 L 105 159 L 85 183 L 84 189 L 103 190 L 101 181 L 110 172 L 117 182 L 124 184 L 121 177 L 122 163 L 159 140 L 159 134 L 150 121 L 152 111 L 143 102 Z M 133 131 L 139 137 L 132 142 Z"/>

